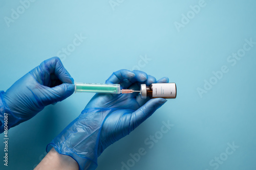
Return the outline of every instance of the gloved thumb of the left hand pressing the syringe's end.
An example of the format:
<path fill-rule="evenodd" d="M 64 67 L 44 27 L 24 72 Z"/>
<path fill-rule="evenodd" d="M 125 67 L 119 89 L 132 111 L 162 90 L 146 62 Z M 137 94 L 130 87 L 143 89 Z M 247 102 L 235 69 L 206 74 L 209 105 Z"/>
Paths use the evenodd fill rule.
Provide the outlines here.
<path fill-rule="evenodd" d="M 63 83 L 58 86 L 47 88 L 44 95 L 41 96 L 41 102 L 44 106 L 55 104 L 66 98 L 68 98 L 75 91 L 75 85 L 69 83 Z"/>

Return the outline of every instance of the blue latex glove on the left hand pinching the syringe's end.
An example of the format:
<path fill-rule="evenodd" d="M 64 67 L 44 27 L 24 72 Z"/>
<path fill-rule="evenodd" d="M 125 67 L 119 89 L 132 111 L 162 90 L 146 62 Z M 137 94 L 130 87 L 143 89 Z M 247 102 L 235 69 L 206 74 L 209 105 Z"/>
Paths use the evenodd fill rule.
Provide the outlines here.
<path fill-rule="evenodd" d="M 6 92 L 0 91 L 0 132 L 4 113 L 8 113 L 9 129 L 32 118 L 45 106 L 68 98 L 74 89 L 74 80 L 58 57 L 42 62 Z"/>

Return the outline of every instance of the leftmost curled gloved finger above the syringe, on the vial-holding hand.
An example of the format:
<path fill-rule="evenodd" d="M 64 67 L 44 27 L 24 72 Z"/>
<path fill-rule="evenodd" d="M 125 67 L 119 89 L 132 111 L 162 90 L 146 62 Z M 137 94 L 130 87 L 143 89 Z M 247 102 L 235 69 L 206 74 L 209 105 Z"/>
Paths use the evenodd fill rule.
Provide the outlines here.
<path fill-rule="evenodd" d="M 113 72 L 113 74 L 106 80 L 106 84 L 119 84 L 124 79 L 131 79 L 135 76 L 135 74 L 127 69 L 121 69 L 118 71 Z"/>

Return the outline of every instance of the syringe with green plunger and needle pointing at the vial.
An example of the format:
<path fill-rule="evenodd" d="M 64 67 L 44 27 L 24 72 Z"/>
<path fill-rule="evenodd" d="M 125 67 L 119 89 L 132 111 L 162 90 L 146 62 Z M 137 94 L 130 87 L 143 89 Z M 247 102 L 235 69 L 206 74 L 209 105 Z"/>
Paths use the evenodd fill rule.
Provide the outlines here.
<path fill-rule="evenodd" d="M 76 92 L 120 94 L 140 91 L 132 89 L 120 89 L 120 84 L 75 83 L 75 93 Z"/>

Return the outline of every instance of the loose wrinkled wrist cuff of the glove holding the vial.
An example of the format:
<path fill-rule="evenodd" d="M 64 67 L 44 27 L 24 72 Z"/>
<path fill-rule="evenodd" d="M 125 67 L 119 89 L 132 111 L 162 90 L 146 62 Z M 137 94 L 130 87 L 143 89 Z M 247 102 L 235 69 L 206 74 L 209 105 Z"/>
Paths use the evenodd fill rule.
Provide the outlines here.
<path fill-rule="evenodd" d="M 102 125 L 115 108 L 89 108 L 73 120 L 47 146 L 62 155 L 75 159 L 79 169 L 95 169 L 97 167 L 98 145 Z M 101 152 L 100 152 L 101 154 Z"/>

